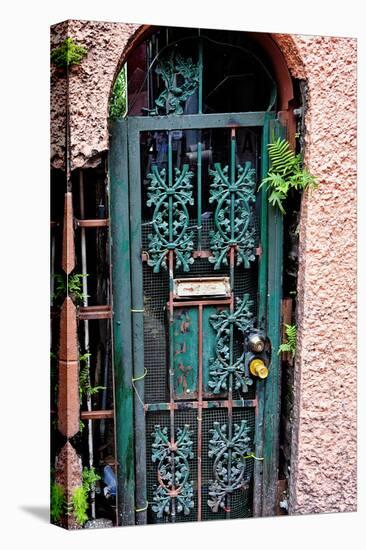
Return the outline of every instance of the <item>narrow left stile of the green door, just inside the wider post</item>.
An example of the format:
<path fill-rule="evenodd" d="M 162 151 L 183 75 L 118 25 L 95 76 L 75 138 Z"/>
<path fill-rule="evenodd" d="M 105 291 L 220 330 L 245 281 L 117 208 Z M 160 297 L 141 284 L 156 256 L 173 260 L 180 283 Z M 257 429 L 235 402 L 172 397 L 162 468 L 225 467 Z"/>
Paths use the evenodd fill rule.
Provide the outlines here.
<path fill-rule="evenodd" d="M 128 124 L 131 119 L 129 119 Z M 147 521 L 146 497 L 146 443 L 144 411 L 144 295 L 142 275 L 141 235 L 141 171 L 140 140 L 128 139 L 129 197 L 130 197 L 130 242 L 131 242 L 131 311 L 132 355 L 134 377 L 135 412 L 135 485 L 136 524 Z"/>

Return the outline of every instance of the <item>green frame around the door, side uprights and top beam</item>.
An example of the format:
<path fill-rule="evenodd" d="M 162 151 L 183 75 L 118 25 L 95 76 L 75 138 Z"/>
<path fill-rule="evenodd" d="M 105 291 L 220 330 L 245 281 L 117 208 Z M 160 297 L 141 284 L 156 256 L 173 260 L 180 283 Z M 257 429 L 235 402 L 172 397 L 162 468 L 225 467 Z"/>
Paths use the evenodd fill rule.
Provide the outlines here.
<path fill-rule="evenodd" d="M 149 130 L 262 127 L 261 177 L 269 168 L 267 144 L 285 128 L 274 112 L 132 116 L 110 124 L 110 217 L 113 304 L 113 365 L 117 497 L 120 525 L 145 524 L 146 449 L 144 395 L 143 288 L 141 261 L 140 132 Z M 130 162 L 129 159 L 133 159 Z M 280 413 L 282 242 L 281 212 L 260 191 L 261 249 L 259 319 L 272 343 L 269 376 L 258 384 L 254 460 L 254 516 L 275 513 Z M 269 268 L 270 267 L 270 268 Z M 132 284 L 133 281 L 133 284 Z M 263 459 L 263 460 L 262 460 Z"/>

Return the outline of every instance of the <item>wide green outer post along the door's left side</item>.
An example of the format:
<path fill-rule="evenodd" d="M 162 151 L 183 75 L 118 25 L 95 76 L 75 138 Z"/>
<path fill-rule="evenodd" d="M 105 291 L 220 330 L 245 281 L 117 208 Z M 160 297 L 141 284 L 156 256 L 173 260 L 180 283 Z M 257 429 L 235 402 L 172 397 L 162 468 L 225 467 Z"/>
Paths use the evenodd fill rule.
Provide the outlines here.
<path fill-rule="evenodd" d="M 118 521 L 135 524 L 134 423 L 131 348 L 131 286 L 127 127 L 116 120 L 110 127 L 111 256 L 113 281 L 113 362 L 118 478 Z"/>

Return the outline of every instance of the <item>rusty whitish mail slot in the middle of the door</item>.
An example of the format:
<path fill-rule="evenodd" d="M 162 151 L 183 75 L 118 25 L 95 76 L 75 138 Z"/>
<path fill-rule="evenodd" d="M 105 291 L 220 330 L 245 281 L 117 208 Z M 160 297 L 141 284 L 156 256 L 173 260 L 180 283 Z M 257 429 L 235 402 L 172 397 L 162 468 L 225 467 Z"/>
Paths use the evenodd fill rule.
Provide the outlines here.
<path fill-rule="evenodd" d="M 174 279 L 174 298 L 197 298 L 215 296 L 229 298 L 231 295 L 229 277 L 200 277 L 192 279 Z"/>

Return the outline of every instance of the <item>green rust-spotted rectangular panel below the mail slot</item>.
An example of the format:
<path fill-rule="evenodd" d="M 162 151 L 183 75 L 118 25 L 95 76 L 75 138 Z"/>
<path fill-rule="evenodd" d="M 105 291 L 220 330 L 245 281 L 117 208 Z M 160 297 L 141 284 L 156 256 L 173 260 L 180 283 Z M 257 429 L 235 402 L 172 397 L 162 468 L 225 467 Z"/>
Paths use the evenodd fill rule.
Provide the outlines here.
<path fill-rule="evenodd" d="M 198 395 L 198 308 L 175 308 L 173 320 L 174 398 Z"/>

